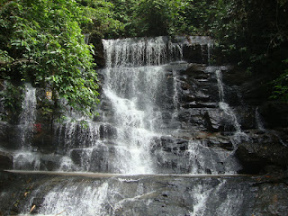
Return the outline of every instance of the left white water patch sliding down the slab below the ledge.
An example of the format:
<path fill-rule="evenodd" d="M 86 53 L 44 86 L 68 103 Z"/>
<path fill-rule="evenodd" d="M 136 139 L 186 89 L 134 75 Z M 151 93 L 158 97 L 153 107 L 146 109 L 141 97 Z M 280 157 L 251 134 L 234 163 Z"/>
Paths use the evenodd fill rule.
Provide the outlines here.
<path fill-rule="evenodd" d="M 103 184 L 58 184 L 52 191 L 45 195 L 42 203 L 40 215 L 107 215 L 103 207 L 107 202 L 107 192 L 109 185 Z M 74 195 L 74 194 L 77 195 Z M 37 196 L 37 194 L 35 194 Z M 85 199 L 84 199 L 85 197 Z M 57 202 L 55 202 L 57 201 Z"/>

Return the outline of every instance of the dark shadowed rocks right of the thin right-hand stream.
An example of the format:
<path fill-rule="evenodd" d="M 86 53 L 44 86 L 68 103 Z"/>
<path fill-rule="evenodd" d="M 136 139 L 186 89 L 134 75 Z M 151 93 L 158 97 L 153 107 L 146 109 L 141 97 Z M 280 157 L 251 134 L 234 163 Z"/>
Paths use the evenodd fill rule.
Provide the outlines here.
<path fill-rule="evenodd" d="M 266 80 L 266 76 L 250 76 L 236 67 L 223 72 L 225 87 L 237 89 L 240 95 L 240 103 L 230 97 L 229 103 L 237 105 L 238 121 L 247 133 L 247 139 L 240 142 L 236 150 L 242 173 L 272 172 L 286 169 L 288 165 L 288 108 L 284 103 L 266 102 L 270 94 L 266 92 Z"/>

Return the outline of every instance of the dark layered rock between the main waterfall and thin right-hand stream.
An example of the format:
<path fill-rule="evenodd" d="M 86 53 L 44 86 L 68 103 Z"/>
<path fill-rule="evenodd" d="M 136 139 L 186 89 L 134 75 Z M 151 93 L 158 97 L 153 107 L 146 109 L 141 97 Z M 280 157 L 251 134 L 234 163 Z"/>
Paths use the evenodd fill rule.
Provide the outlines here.
<path fill-rule="evenodd" d="M 235 130 L 219 108 L 219 89 L 213 67 L 191 64 L 178 76 L 178 120 L 181 128 L 204 131 Z"/>

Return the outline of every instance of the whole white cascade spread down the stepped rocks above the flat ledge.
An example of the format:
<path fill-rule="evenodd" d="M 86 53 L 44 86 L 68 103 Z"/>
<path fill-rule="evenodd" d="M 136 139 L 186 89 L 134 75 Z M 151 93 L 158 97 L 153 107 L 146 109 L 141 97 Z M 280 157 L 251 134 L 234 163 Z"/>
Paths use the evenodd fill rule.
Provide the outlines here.
<path fill-rule="evenodd" d="M 193 137 L 195 131 L 207 130 L 206 120 L 198 119 L 200 113 L 219 112 L 212 108 L 216 101 L 208 95 L 195 89 L 195 96 L 190 96 L 193 92 L 184 86 L 188 80 L 183 71 L 191 67 L 184 58 L 196 45 L 201 47 L 196 53 L 199 59 L 203 59 L 203 53 L 210 54 L 211 40 L 205 37 L 103 40 L 106 67 L 98 71 L 104 77 L 98 120 L 87 121 L 86 128 L 76 121 L 55 123 L 56 151 L 41 155 L 30 149 L 27 154 L 14 157 L 14 168 L 133 175 L 237 172 L 230 152 L 210 148 L 210 140 Z M 205 61 L 209 59 L 208 55 Z M 203 73 L 216 73 L 220 109 L 233 119 L 239 131 L 235 114 L 223 101 L 223 85 L 216 68 L 207 67 Z M 200 76 L 195 82 L 205 84 L 208 79 Z M 28 94 L 25 98 L 31 101 Z M 194 102 L 190 103 L 192 99 Z M 183 100 L 188 103 L 183 105 Z M 183 117 L 186 113 L 188 116 Z M 202 126 L 194 126 L 197 121 Z"/>

